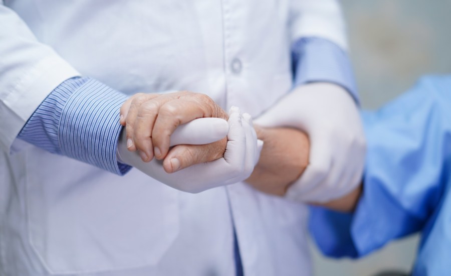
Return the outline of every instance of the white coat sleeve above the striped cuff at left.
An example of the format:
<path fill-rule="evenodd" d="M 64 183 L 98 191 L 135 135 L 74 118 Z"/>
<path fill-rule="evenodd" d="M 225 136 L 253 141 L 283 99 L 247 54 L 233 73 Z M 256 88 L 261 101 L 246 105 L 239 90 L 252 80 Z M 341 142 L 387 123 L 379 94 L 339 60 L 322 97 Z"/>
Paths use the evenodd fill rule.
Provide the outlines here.
<path fill-rule="evenodd" d="M 52 48 L 37 41 L 24 21 L 0 5 L 0 150 L 16 136 L 60 83 L 79 76 Z"/>

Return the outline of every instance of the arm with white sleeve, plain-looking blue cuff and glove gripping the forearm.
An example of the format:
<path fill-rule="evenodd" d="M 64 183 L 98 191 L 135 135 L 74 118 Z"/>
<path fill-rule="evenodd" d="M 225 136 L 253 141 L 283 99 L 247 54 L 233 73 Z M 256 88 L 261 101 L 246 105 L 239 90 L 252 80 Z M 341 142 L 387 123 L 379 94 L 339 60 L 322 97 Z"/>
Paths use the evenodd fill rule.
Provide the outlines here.
<path fill-rule="evenodd" d="M 329 202 L 360 183 L 365 139 L 358 96 L 337 2 L 293 1 L 292 5 L 295 88 L 256 124 L 292 127 L 309 135 L 307 168 L 302 172 L 304 168 L 298 167 L 300 177 L 281 183 L 285 187 L 277 190 L 286 190 L 286 196 L 297 201 Z"/>

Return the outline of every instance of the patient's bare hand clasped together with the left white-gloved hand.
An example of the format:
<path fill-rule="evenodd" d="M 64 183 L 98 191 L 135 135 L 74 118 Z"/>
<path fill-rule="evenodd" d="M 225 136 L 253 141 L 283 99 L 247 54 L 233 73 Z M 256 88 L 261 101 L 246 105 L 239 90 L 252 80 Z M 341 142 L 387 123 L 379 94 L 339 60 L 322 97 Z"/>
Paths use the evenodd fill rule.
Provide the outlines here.
<path fill-rule="evenodd" d="M 257 140 L 251 116 L 240 114 L 237 107 L 227 114 L 204 94 L 139 93 L 122 105 L 120 113 L 125 126 L 117 150 L 120 161 L 175 189 L 197 193 L 243 181 L 259 160 L 262 142 Z M 170 147 L 179 125 L 208 117 L 228 121 L 228 132 L 223 132 L 227 137 L 206 145 L 186 145 L 181 137 L 181 145 Z M 195 127 L 191 125 L 191 131 L 204 130 Z M 216 130 L 223 128 L 219 124 Z M 198 135 L 184 133 L 187 140 Z"/>

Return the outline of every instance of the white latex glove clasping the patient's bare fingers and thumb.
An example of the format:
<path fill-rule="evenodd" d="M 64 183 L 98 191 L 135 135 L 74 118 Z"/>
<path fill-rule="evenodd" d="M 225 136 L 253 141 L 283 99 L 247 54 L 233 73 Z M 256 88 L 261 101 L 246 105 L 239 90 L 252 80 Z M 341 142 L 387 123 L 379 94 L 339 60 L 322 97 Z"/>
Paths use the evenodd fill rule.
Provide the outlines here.
<path fill-rule="evenodd" d="M 227 134 L 229 141 L 225 147 L 224 156 L 220 159 L 168 174 L 163 169 L 162 161 L 153 159 L 151 162 L 145 163 L 141 160 L 138 152 L 128 151 L 125 131 L 119 139 L 118 158 L 121 162 L 137 168 L 174 189 L 189 193 L 199 193 L 247 179 L 259 160 L 263 146 L 263 142 L 257 140 L 251 116 L 246 113 L 240 115 L 240 110 L 232 107 L 229 112 L 229 131 L 227 132 L 227 128 L 225 128 L 225 133 L 224 125 L 218 121 L 222 119 L 215 118 L 209 121 L 208 119 L 195 119 L 179 126 L 171 135 L 171 146 L 212 143 Z M 225 122 L 225 120 L 222 121 Z"/>

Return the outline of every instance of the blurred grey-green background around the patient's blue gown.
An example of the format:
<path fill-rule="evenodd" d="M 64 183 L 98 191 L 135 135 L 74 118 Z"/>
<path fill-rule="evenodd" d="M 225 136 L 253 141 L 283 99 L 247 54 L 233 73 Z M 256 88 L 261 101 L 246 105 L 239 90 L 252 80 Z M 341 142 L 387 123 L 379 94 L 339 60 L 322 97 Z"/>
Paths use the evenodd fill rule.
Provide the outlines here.
<path fill-rule="evenodd" d="M 424 74 L 451 73 L 451 0 L 343 0 L 350 56 L 364 109 L 376 109 Z M 451 91 L 450 91 L 451 93 Z M 408 272 L 418 235 L 358 261 L 327 259 L 313 248 L 316 276 Z"/>

